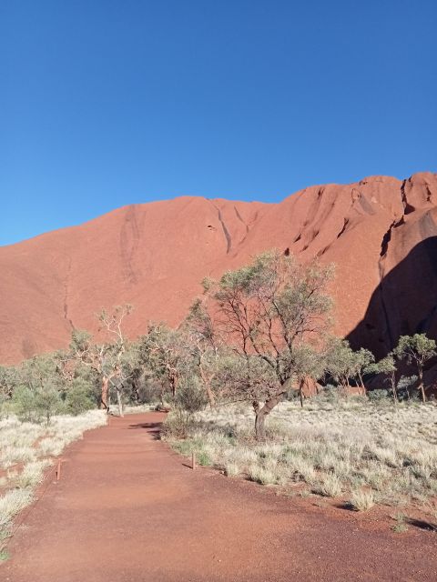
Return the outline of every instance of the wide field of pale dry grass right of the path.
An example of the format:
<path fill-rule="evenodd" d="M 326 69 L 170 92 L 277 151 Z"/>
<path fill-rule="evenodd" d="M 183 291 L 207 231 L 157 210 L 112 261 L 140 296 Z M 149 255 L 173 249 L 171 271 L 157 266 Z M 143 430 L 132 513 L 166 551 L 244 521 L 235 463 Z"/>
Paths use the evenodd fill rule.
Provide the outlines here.
<path fill-rule="evenodd" d="M 263 485 L 306 483 L 321 496 L 349 496 L 363 511 L 376 500 L 422 507 L 437 495 L 436 423 L 433 403 L 316 396 L 303 408 L 279 405 L 264 443 L 254 440 L 253 413 L 242 405 L 198 413 L 183 440 L 171 430 L 165 438 L 183 454 L 206 451 L 226 475 Z"/>

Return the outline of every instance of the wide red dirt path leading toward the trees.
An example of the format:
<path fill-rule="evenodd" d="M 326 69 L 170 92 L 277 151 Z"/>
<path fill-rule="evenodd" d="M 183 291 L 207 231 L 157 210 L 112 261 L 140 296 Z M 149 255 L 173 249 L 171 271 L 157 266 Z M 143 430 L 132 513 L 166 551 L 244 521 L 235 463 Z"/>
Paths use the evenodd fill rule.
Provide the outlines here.
<path fill-rule="evenodd" d="M 185 466 L 163 415 L 111 418 L 68 449 L 25 517 L 8 582 L 435 580 L 437 536 Z"/>

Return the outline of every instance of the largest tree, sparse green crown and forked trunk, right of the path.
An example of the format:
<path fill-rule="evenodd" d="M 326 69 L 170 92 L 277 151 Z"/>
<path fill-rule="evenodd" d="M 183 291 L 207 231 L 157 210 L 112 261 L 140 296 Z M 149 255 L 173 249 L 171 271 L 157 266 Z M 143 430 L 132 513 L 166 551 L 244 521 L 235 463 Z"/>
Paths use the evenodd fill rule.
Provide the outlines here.
<path fill-rule="evenodd" d="M 299 376 L 298 351 L 320 343 L 332 276 L 332 266 L 300 265 L 294 256 L 270 251 L 205 285 L 213 326 L 233 352 L 228 384 L 234 396 L 251 402 L 258 439 L 265 437 L 266 417 Z"/>

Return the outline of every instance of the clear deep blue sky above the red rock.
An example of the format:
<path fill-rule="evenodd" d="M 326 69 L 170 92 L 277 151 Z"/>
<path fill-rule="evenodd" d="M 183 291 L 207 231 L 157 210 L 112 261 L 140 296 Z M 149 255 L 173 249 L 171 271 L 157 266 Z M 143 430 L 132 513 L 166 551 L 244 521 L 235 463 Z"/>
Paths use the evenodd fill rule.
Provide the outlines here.
<path fill-rule="evenodd" d="M 435 0 L 2 0 L 0 245 L 437 171 Z"/>

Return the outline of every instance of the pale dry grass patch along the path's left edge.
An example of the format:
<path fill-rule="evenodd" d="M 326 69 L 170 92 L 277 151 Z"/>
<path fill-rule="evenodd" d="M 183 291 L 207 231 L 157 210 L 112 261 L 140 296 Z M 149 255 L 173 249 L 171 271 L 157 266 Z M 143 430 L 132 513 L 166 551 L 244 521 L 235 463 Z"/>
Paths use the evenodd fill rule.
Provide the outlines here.
<path fill-rule="evenodd" d="M 107 415 L 90 410 L 79 416 L 53 416 L 49 424 L 0 420 L 0 553 L 15 515 L 33 500 L 47 467 L 72 441 L 105 425 Z"/>

